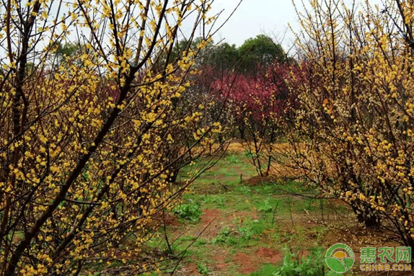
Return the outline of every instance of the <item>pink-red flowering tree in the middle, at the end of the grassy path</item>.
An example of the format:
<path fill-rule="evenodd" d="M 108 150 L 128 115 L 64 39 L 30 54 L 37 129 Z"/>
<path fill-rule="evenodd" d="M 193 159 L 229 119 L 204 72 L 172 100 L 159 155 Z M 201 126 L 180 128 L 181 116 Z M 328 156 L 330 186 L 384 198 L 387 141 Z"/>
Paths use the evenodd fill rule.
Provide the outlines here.
<path fill-rule="evenodd" d="M 261 176 L 268 175 L 273 159 L 273 144 L 277 141 L 277 118 L 288 116 L 289 72 L 295 70 L 288 63 L 275 61 L 271 66 L 257 66 L 255 74 L 238 75 L 230 72 L 213 82 L 222 98 L 229 99 L 235 127 L 244 141 L 248 155 Z"/>

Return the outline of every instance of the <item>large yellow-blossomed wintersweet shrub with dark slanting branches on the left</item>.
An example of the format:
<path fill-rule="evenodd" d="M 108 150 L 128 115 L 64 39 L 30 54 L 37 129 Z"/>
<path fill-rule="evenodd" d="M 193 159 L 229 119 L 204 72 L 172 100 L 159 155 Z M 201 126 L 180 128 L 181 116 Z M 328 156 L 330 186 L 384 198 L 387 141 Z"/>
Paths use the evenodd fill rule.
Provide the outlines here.
<path fill-rule="evenodd" d="M 197 11 L 208 1 L 175 2 L 68 1 L 63 11 L 10 1 L 0 18 L 10 41 L 0 59 L 2 273 L 128 262 L 177 204 L 170 183 L 220 132 L 199 124 L 208 97 L 188 101 L 198 52 L 166 59 L 188 14 L 208 19 Z M 157 264 L 141 261 L 137 275 Z"/>

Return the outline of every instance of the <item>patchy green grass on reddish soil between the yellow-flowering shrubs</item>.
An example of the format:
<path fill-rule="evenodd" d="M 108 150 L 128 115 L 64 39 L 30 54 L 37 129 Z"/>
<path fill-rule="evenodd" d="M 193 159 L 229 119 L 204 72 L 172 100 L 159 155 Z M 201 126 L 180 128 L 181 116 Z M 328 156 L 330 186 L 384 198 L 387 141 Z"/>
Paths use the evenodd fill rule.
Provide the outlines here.
<path fill-rule="evenodd" d="M 186 166 L 178 180 L 185 180 L 197 166 L 204 164 L 206 160 L 200 159 L 198 163 Z M 256 170 L 244 152 L 233 152 L 196 179 L 190 192 L 183 197 L 184 204 L 175 208 L 182 224 L 179 230 L 174 231 L 176 235 L 180 231 L 184 235 L 173 242 L 172 250 L 180 253 L 192 244 L 186 250 L 184 264 L 192 262 L 201 275 L 208 275 L 215 266 L 215 252 L 219 252 L 218 255 L 225 252 L 228 268 L 223 275 L 240 275 L 239 266 L 233 262 L 238 253 L 255 255 L 255 250 L 260 247 L 274 248 L 279 252 L 285 246 L 301 246 L 302 250 L 310 250 L 320 245 L 324 226 L 308 226 L 304 223 L 306 219 L 301 220 L 301 217 L 304 217 L 305 210 L 320 213 L 320 206 L 326 206 L 326 201 L 314 199 L 316 191 L 297 181 L 273 180 L 250 186 L 246 179 L 255 175 Z M 197 239 L 202 230 L 200 212 L 211 209 L 221 213 L 221 221 L 215 226 L 217 234 Z M 232 214 L 239 215 L 232 217 Z M 310 240 L 308 235 L 314 238 Z M 160 248 L 166 248 L 162 237 L 158 242 Z M 251 275 L 275 275 L 279 268 L 280 265 L 263 263 Z"/>

